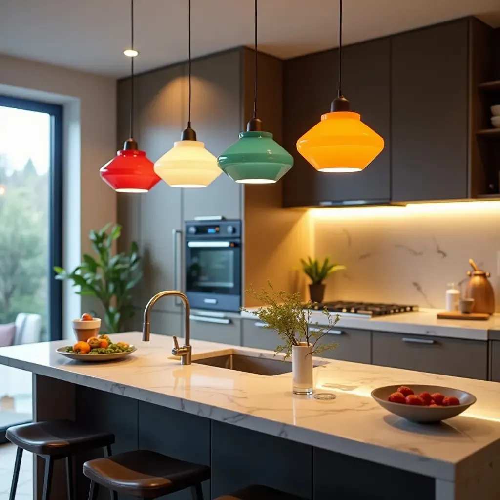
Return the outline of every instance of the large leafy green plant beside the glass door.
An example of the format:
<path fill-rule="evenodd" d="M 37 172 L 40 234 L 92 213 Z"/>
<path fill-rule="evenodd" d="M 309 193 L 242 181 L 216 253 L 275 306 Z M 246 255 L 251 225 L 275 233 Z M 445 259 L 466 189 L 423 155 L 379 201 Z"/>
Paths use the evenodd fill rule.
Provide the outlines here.
<path fill-rule="evenodd" d="M 91 230 L 89 238 L 96 257 L 84 253 L 83 262 L 71 272 L 54 267 L 55 279 L 72 281 L 73 286 L 80 287 L 76 293 L 99 299 L 108 333 L 122 331 L 124 321 L 133 317 L 131 290 L 142 278 L 141 258 L 135 241 L 128 253 L 112 255 L 113 241 L 120 232 L 121 226 L 111 223 L 97 232 Z"/>

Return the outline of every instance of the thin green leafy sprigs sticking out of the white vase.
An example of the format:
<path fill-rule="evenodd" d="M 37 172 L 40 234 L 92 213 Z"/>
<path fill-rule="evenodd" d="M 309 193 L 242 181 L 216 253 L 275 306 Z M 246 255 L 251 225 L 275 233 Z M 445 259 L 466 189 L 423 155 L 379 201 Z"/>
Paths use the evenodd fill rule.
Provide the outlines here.
<path fill-rule="evenodd" d="M 312 345 L 311 354 L 318 355 L 325 350 L 334 349 L 337 343 L 323 343 L 320 340 L 326 335 L 340 319 L 339 314 L 335 314 L 334 319 L 323 308 L 321 314 L 327 318 L 326 325 L 320 325 L 318 321 L 311 322 L 313 303 L 309 300 L 302 302 L 300 293 L 288 293 L 280 290 L 276 291 L 272 283 L 268 280 L 270 292 L 261 288 L 255 291 L 253 285 L 246 290 L 246 293 L 259 302 L 266 304 L 257 310 L 244 310 L 254 316 L 257 316 L 262 322 L 266 323 L 264 328 L 275 330 L 279 337 L 284 341 L 283 344 L 276 346 L 274 355 L 284 351 L 284 359 L 290 357 L 292 345 L 299 345 L 300 342 L 307 342 Z M 319 342 L 319 343 L 318 343 Z"/>

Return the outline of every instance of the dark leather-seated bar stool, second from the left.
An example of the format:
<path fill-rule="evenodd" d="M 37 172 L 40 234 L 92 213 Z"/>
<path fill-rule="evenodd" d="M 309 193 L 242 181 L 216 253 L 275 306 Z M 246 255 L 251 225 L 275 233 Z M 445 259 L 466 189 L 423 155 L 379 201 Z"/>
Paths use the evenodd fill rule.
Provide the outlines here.
<path fill-rule="evenodd" d="M 156 498 L 191 488 L 193 500 L 203 500 L 201 482 L 210 478 L 210 467 L 177 460 L 154 451 L 126 451 L 83 464 L 90 479 L 89 500 L 96 500 L 99 484 L 113 492 Z"/>

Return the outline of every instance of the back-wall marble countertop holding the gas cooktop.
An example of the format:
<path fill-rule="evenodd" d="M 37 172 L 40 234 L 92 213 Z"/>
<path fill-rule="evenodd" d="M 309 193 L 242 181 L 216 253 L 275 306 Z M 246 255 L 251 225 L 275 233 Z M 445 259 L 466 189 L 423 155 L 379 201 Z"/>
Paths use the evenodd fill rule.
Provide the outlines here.
<path fill-rule="evenodd" d="M 257 307 L 248 307 L 248 310 L 256 310 Z M 483 321 L 471 321 L 468 319 L 437 319 L 437 313 L 442 309 L 421 308 L 419 311 L 392 314 L 390 316 L 378 316 L 371 319 L 365 317 L 342 316 L 336 327 L 360 328 L 373 331 L 390 331 L 394 333 L 409 333 L 414 335 L 430 335 L 437 337 L 465 338 L 470 340 L 488 340 L 488 338 L 500 339 L 500 314 L 493 314 L 489 319 Z M 258 319 L 246 312 L 241 311 L 242 318 Z M 312 321 L 326 324 L 326 318 L 320 313 L 313 313 Z M 491 331 L 490 331 L 491 330 Z"/>

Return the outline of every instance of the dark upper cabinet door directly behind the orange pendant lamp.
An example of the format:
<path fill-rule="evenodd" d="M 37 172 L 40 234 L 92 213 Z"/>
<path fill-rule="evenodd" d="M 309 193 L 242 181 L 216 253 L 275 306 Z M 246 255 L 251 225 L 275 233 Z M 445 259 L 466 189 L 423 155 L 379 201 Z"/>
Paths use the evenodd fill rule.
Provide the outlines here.
<path fill-rule="evenodd" d="M 284 146 L 294 158 L 283 177 L 283 205 L 380 202 L 390 198 L 390 42 L 378 39 L 347 46 L 342 57 L 342 91 L 351 110 L 385 140 L 385 148 L 363 171 L 317 172 L 296 150 L 297 139 L 329 112 L 336 97 L 338 50 L 284 62 Z"/>

